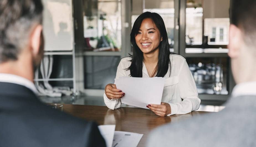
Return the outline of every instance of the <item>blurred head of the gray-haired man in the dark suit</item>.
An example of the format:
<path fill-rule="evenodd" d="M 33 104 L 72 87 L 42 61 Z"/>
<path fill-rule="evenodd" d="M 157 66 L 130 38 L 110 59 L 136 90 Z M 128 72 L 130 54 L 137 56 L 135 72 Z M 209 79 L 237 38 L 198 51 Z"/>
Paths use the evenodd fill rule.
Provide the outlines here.
<path fill-rule="evenodd" d="M 0 65 L 22 58 L 32 59 L 32 67 L 40 63 L 42 11 L 40 0 L 0 0 Z"/>

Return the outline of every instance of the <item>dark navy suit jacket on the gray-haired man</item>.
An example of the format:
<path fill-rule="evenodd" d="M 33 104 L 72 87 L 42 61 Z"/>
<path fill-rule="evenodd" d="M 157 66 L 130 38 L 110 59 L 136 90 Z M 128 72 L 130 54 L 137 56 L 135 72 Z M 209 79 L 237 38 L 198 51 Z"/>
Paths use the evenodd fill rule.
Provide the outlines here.
<path fill-rule="evenodd" d="M 0 146 L 105 146 L 105 140 L 94 122 L 51 109 L 25 86 L 0 82 Z"/>

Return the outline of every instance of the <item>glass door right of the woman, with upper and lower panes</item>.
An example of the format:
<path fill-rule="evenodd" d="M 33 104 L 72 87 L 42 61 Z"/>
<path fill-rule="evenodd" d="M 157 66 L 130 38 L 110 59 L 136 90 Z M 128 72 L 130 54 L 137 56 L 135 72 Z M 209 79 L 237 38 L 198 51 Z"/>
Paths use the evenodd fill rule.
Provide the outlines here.
<path fill-rule="evenodd" d="M 181 1 L 180 53 L 201 99 L 226 100 L 234 86 L 227 55 L 230 0 Z M 218 96 L 217 96 L 218 95 Z"/>

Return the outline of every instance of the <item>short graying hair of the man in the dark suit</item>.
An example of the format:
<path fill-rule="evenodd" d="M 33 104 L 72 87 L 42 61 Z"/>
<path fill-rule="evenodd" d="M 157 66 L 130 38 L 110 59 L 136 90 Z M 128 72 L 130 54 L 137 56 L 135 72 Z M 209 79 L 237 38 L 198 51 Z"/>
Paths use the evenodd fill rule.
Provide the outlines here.
<path fill-rule="evenodd" d="M 17 60 L 31 27 L 42 24 L 41 0 L 0 0 L 0 63 Z"/>

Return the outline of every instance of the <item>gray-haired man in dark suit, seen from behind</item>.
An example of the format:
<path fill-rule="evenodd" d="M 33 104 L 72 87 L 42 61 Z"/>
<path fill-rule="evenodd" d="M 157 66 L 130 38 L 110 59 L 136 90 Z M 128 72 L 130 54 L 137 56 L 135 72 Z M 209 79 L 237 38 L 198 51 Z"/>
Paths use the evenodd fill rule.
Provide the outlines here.
<path fill-rule="evenodd" d="M 97 124 L 53 110 L 36 96 L 42 11 L 40 0 L 0 0 L 0 146 L 105 146 Z"/>

